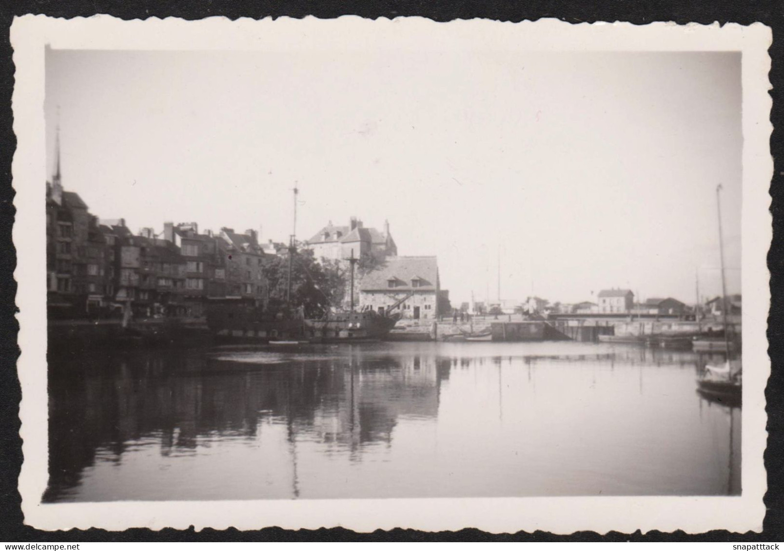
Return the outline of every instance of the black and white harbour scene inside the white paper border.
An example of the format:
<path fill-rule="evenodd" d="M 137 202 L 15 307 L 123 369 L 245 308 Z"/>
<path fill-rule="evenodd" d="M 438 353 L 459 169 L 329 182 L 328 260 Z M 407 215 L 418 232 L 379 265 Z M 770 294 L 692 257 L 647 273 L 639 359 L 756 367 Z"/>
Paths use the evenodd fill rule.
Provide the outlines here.
<path fill-rule="evenodd" d="M 44 506 L 757 484 L 742 53 L 452 30 L 44 46 Z"/>

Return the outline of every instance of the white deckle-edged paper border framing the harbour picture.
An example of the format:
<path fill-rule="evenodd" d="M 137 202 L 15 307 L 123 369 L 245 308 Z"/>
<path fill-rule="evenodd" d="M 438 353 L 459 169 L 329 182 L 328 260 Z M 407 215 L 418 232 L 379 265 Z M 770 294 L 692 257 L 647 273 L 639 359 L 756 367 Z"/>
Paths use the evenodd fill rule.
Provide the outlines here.
<path fill-rule="evenodd" d="M 770 373 L 767 328 L 770 293 L 766 256 L 773 161 L 768 96 L 771 30 L 762 24 L 518 24 L 491 20 L 436 23 L 423 18 L 364 20 L 123 21 L 110 16 L 72 20 L 23 16 L 11 27 L 16 83 L 13 158 L 18 263 L 16 304 L 24 465 L 19 479 L 24 522 L 44 530 L 100 527 L 252 529 L 347 527 L 356 531 L 477 527 L 490 532 L 554 533 L 727 529 L 761 531 L 766 475 L 764 387 Z M 427 498 L 220 502 L 101 502 L 42 504 L 47 474 L 44 50 L 538 50 L 742 52 L 742 495 L 738 497 Z"/>

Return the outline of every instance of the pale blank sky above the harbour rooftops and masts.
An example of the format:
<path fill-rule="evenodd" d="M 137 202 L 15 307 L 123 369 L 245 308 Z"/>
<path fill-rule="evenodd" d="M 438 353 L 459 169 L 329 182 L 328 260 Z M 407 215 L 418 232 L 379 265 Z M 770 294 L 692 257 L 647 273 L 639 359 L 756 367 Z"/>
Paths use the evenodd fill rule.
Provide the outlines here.
<path fill-rule="evenodd" d="M 49 51 L 63 183 L 129 227 L 389 219 L 453 302 L 740 292 L 736 53 Z M 499 254 L 500 253 L 500 254 Z M 592 295 L 593 292 L 593 295 Z"/>

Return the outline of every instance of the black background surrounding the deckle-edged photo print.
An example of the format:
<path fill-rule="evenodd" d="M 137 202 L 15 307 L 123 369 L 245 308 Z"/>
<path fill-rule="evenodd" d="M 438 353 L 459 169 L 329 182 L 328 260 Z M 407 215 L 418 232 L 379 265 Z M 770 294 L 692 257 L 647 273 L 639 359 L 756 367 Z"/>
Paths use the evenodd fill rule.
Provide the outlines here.
<path fill-rule="evenodd" d="M 595 21 L 628 21 L 633 24 L 648 24 L 654 21 L 675 21 L 678 24 L 690 22 L 712 24 L 739 23 L 752 24 L 757 21 L 773 30 L 771 73 L 769 75 L 773 108 L 771 121 L 774 126 L 771 135 L 771 152 L 775 158 L 774 176 L 771 181 L 771 212 L 773 214 L 773 241 L 768 254 L 768 267 L 771 271 L 771 310 L 768 326 L 769 353 L 772 361 L 771 379 L 768 381 L 766 398 L 768 401 L 768 448 L 765 452 L 765 466 L 768 471 L 768 493 L 765 505 L 768 513 L 764 520 L 762 534 L 735 534 L 727 531 L 712 531 L 700 535 L 683 532 L 662 533 L 658 531 L 641 534 L 621 534 L 610 532 L 597 535 L 595 532 L 576 532 L 572 535 L 554 535 L 546 532 L 518 532 L 517 534 L 493 535 L 475 529 L 457 532 L 421 532 L 396 529 L 359 534 L 343 528 L 321 529 L 316 531 L 287 531 L 270 527 L 259 531 L 191 530 L 177 531 L 165 529 L 151 531 L 132 529 L 122 532 L 103 530 L 71 530 L 45 532 L 24 525 L 20 509 L 20 495 L 16 491 L 16 480 L 22 463 L 19 402 L 20 386 L 16 376 L 16 346 L 18 324 L 14 313 L 16 306 L 16 283 L 13 270 L 16 267 L 16 254 L 12 242 L 12 228 L 15 209 L 14 191 L 11 177 L 11 161 L 16 148 L 13 134 L 13 113 L 11 95 L 14 83 L 12 49 L 9 42 L 9 29 L 13 16 L 25 13 L 42 13 L 54 17 L 71 18 L 107 13 L 122 19 L 147 19 L 148 17 L 176 16 L 186 20 L 196 20 L 208 16 L 227 16 L 230 19 L 252 17 L 262 19 L 272 16 L 304 17 L 308 15 L 328 19 L 353 14 L 368 18 L 397 16 L 423 16 L 436 21 L 453 19 L 473 19 L 481 17 L 491 20 L 512 21 L 538 20 L 554 17 L 569 23 L 593 23 Z M 539 0 L 535 2 L 509 2 L 508 0 L 410 0 L 406 2 L 385 2 L 383 0 L 348 0 L 336 2 L 312 2 L 310 0 L 183 0 L 168 2 L 117 2 L 95 0 L 43 0 L 40 2 L 0 2 L 0 542 L 244 542 L 244 541 L 517 541 L 517 542 L 782 542 L 784 541 L 784 515 L 782 515 L 782 310 L 784 298 L 779 294 L 784 277 L 784 256 L 782 256 L 782 203 L 784 203 L 784 155 L 782 152 L 782 27 L 784 21 L 784 2 L 578 2 L 575 0 Z"/>

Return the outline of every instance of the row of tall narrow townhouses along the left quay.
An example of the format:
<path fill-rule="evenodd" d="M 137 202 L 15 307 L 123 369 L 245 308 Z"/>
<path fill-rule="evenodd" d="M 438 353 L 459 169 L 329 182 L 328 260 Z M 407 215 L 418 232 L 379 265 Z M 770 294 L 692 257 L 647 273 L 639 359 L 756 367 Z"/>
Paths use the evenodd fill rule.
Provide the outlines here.
<path fill-rule="evenodd" d="M 266 298 L 265 253 L 255 230 L 198 232 L 165 223 L 162 234 L 133 234 L 125 219 L 99 220 L 59 177 L 46 186 L 48 308 L 53 318 L 111 317 L 129 304 L 135 316 L 205 314 L 212 299 Z"/>

